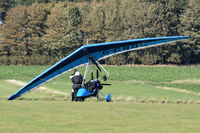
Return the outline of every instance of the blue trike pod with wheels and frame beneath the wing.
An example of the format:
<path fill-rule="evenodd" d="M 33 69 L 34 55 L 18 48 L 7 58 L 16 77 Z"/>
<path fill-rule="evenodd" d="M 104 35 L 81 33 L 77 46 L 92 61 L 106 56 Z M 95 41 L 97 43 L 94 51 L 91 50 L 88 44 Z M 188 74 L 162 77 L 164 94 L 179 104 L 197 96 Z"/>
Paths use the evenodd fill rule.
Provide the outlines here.
<path fill-rule="evenodd" d="M 94 69 L 93 66 L 96 66 L 96 78 L 94 78 Z M 99 72 L 104 72 L 105 75 L 103 77 L 100 77 Z M 91 78 L 89 81 L 86 82 L 87 75 L 91 74 Z M 82 88 L 80 88 L 77 92 L 77 99 L 78 101 L 84 101 L 85 98 L 88 97 L 96 97 L 98 100 L 106 100 L 107 102 L 111 101 L 112 94 L 109 93 L 106 96 L 101 92 L 104 85 L 111 85 L 111 84 L 105 84 L 101 83 L 101 80 L 107 81 L 109 77 L 108 71 L 93 57 L 88 58 L 88 63 L 86 65 L 84 77 L 83 77 L 83 83 Z M 101 96 L 100 96 L 101 95 Z"/>

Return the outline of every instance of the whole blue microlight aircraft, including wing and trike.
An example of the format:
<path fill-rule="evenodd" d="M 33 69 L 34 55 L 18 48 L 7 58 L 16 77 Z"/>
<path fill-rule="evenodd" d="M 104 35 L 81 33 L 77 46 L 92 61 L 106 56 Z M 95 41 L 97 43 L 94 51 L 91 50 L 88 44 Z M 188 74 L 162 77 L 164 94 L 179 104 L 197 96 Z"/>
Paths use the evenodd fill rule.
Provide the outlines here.
<path fill-rule="evenodd" d="M 84 45 L 57 62 L 55 65 L 51 66 L 49 69 L 45 70 L 43 73 L 32 79 L 28 84 L 19 89 L 16 93 L 8 98 L 8 100 L 14 100 L 23 94 L 30 92 L 33 89 L 38 88 L 39 86 L 47 83 L 48 81 L 58 77 L 61 74 L 68 72 L 71 69 L 79 67 L 81 65 L 86 65 L 86 70 L 83 80 L 83 88 L 79 89 L 77 97 L 84 100 L 87 97 L 96 96 L 99 98 L 99 94 L 102 94 L 100 90 L 103 88 L 103 85 L 110 84 L 101 84 L 100 78 L 98 77 L 99 71 L 101 69 L 105 71 L 106 75 L 103 77 L 104 80 L 107 80 L 109 73 L 103 68 L 99 60 L 107 58 L 111 55 L 139 50 L 154 46 L 163 45 L 169 42 L 174 42 L 182 39 L 187 39 L 188 36 L 171 36 L 171 37 L 155 37 L 155 38 L 142 38 L 142 39 L 133 39 L 125 41 L 116 41 L 116 42 L 106 42 L 99 44 Z M 85 79 L 88 73 L 89 67 L 94 64 L 98 69 L 96 72 L 96 79 L 94 79 L 93 73 L 91 73 L 91 80 L 87 83 L 93 82 L 95 88 L 88 90 Z M 103 95 L 103 94 L 102 94 Z M 107 102 L 111 101 L 111 94 L 108 94 L 105 98 Z"/>

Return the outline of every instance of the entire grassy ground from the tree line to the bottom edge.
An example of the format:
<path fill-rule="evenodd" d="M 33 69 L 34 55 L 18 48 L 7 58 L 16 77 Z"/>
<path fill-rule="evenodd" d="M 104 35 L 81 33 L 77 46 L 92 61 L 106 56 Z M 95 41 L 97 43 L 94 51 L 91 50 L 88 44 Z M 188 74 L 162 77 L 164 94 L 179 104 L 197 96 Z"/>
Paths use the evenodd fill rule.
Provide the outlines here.
<path fill-rule="evenodd" d="M 71 72 L 15 101 L 5 99 L 48 66 L 0 66 L 2 133 L 198 133 L 200 68 L 113 67 L 113 102 L 70 102 Z M 83 73 L 84 68 L 80 68 Z M 148 103 L 148 104 L 147 104 Z M 167 104 L 162 104 L 167 103 Z"/>

